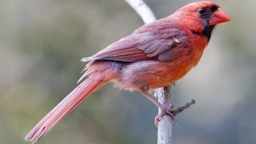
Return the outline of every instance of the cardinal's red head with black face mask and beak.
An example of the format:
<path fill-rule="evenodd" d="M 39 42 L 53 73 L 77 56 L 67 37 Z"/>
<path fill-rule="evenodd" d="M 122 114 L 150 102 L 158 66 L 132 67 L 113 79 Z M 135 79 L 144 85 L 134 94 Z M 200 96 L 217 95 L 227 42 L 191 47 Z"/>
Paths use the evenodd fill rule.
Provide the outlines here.
<path fill-rule="evenodd" d="M 190 3 L 177 10 L 174 15 L 176 14 L 176 20 L 182 27 L 186 27 L 193 34 L 206 37 L 208 41 L 216 25 L 230 21 L 227 14 L 210 1 Z"/>

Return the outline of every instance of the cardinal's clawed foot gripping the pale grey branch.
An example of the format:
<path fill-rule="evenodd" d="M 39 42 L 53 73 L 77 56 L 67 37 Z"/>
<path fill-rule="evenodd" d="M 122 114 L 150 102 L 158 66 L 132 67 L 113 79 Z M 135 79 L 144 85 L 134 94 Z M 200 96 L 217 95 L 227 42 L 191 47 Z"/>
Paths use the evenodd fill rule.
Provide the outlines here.
<path fill-rule="evenodd" d="M 154 125 L 155 126 L 158 126 L 158 122 L 160 121 L 162 116 L 164 116 L 165 114 L 169 115 L 171 120 L 176 122 L 174 111 L 178 110 L 178 107 L 176 108 L 173 105 L 162 105 L 158 108 L 161 110 L 161 112 L 154 118 Z"/>

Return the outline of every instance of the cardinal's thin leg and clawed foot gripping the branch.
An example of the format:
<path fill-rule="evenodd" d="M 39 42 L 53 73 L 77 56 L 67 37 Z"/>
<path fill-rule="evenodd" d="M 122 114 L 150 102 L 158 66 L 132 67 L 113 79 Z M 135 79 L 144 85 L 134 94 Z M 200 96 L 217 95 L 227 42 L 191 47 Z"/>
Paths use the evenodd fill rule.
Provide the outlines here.
<path fill-rule="evenodd" d="M 159 122 L 160 118 L 162 118 L 162 116 L 165 114 L 168 114 L 172 120 L 176 121 L 175 115 L 173 113 L 176 110 L 176 108 L 174 108 L 173 105 L 171 105 L 171 104 L 165 105 L 165 104 L 158 102 L 158 100 L 156 98 L 154 98 L 154 96 L 152 94 L 149 93 L 149 90 L 142 89 L 142 94 L 144 94 L 146 96 L 146 98 L 149 98 L 150 101 L 153 102 L 156 106 L 158 106 L 158 108 L 161 110 L 160 114 L 158 114 L 154 118 L 155 126 L 158 126 L 158 122 Z"/>

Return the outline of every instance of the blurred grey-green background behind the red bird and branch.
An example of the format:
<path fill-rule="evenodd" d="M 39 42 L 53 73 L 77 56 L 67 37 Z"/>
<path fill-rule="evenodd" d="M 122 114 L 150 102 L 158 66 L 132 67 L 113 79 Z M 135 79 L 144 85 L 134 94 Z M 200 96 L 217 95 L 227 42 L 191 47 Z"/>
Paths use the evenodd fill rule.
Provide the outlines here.
<path fill-rule="evenodd" d="M 192 0 L 146 0 L 163 18 Z M 256 1 L 216 0 L 232 19 L 217 27 L 201 62 L 173 89 L 174 144 L 256 143 Z M 82 57 L 143 22 L 122 0 L 2 0 L 0 143 L 25 144 L 29 130 L 77 86 Z M 82 102 L 38 143 L 157 142 L 156 106 L 111 84 Z"/>

